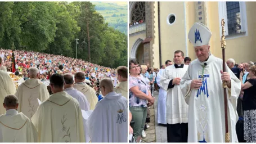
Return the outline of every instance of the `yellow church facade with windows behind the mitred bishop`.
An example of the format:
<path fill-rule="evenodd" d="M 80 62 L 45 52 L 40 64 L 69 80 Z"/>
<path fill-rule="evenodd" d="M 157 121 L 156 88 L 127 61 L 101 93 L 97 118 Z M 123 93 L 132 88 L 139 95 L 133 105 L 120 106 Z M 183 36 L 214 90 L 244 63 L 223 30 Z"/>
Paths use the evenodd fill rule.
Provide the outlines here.
<path fill-rule="evenodd" d="M 129 2 L 129 59 L 160 68 L 182 50 L 196 59 L 188 31 L 202 22 L 212 31 L 210 52 L 222 58 L 224 18 L 226 60 L 256 61 L 256 2 Z"/>

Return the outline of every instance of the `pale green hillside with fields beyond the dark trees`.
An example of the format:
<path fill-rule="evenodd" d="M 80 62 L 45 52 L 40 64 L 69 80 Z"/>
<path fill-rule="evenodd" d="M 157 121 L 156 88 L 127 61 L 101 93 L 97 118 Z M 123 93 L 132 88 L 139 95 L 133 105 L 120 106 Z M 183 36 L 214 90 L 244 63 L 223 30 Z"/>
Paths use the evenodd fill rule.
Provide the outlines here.
<path fill-rule="evenodd" d="M 127 2 L 91 2 L 95 9 L 101 13 L 105 22 L 114 29 L 127 35 Z"/>

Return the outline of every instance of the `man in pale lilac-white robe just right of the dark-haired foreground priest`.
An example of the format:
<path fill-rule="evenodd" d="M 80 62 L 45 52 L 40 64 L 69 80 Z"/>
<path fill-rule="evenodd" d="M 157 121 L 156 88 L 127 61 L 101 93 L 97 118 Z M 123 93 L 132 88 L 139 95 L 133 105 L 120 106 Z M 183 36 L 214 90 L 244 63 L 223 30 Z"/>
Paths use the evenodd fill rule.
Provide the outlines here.
<path fill-rule="evenodd" d="M 82 92 L 79 92 L 77 89 L 74 88 L 73 76 L 71 74 L 64 74 L 64 81 L 65 92 L 67 92 L 71 97 L 77 99 L 81 110 L 90 110 L 90 104 L 87 101 L 86 96 L 84 96 Z"/>

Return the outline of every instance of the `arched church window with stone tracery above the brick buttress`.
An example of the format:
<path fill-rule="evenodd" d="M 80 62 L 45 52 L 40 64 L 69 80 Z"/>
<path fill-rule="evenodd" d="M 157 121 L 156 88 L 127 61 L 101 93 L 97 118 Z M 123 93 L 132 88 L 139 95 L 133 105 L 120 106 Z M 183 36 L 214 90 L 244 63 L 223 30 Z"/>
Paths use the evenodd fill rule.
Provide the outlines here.
<path fill-rule="evenodd" d="M 145 2 L 136 2 L 131 12 L 131 22 L 142 20 L 145 22 Z"/>

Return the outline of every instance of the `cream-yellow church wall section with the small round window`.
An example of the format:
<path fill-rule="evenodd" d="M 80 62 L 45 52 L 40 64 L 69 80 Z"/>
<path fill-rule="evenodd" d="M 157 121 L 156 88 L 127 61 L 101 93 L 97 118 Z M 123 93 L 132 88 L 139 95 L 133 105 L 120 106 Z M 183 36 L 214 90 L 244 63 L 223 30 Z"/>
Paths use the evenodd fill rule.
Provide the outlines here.
<path fill-rule="evenodd" d="M 176 15 L 173 25 L 167 24 L 170 13 Z M 186 55 L 184 2 L 160 2 L 160 28 L 161 64 L 166 60 L 173 61 L 176 50 L 181 50 Z"/>

